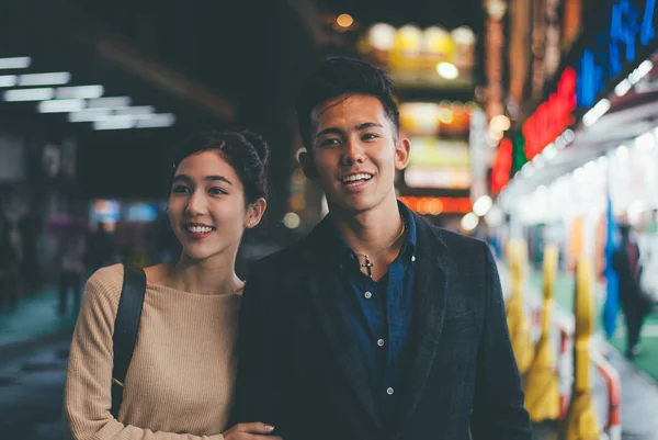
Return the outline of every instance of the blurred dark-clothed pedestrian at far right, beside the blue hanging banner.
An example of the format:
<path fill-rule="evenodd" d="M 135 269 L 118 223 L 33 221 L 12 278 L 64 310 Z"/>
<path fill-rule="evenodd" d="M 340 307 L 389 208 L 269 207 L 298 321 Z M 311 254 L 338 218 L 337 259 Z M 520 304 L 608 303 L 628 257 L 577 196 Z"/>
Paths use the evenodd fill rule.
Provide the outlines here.
<path fill-rule="evenodd" d="M 639 246 L 632 237 L 632 227 L 620 224 L 621 241 L 613 253 L 613 268 L 620 281 L 620 301 L 626 320 L 626 357 L 640 352 L 639 335 L 651 304 L 640 294 L 638 285 Z"/>

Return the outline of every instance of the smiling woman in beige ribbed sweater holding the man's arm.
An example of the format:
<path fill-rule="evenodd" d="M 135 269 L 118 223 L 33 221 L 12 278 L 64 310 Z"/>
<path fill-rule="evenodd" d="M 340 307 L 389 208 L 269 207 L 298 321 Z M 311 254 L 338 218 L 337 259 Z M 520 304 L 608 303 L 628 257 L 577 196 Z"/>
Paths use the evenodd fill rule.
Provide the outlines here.
<path fill-rule="evenodd" d="M 64 403 L 65 438 L 82 440 L 273 439 L 273 427 L 228 430 L 243 282 L 236 255 L 265 211 L 268 146 L 250 132 L 192 136 L 174 154 L 169 219 L 183 251 L 147 268 L 139 331 L 117 419 L 111 408 L 112 334 L 121 264 L 87 283 Z"/>

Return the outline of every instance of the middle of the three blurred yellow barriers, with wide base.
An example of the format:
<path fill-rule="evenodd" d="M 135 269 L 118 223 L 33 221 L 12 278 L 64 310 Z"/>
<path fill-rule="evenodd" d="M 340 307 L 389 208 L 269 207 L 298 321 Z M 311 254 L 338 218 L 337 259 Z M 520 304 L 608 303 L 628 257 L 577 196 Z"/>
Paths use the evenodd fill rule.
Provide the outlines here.
<path fill-rule="evenodd" d="M 553 292 L 557 277 L 558 249 L 548 245 L 544 249 L 544 304 L 542 307 L 542 332 L 535 347 L 535 358 L 525 373 L 525 408 L 533 422 L 557 420 L 560 414 L 559 376 L 555 353 L 551 346 L 551 314 Z"/>

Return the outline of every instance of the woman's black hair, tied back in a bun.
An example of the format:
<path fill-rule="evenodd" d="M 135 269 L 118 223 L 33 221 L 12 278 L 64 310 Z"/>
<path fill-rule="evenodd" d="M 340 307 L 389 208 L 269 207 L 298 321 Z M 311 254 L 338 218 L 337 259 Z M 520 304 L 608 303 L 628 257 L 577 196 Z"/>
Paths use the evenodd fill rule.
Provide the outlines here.
<path fill-rule="evenodd" d="M 194 133 L 172 151 L 174 171 L 186 157 L 209 150 L 216 150 L 236 170 L 245 187 L 247 203 L 268 199 L 270 148 L 261 135 L 248 129 Z"/>

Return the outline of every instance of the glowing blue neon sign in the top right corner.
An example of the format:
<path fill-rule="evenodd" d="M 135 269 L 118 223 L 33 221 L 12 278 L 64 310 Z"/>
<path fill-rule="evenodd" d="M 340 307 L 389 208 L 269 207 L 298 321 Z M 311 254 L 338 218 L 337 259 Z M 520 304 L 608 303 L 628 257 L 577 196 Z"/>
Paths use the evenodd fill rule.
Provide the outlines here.
<path fill-rule="evenodd" d="M 612 5 L 606 32 L 597 35 L 578 61 L 578 108 L 591 108 L 624 64 L 637 61 L 637 44 L 656 37 L 656 0 L 619 0 Z"/>

